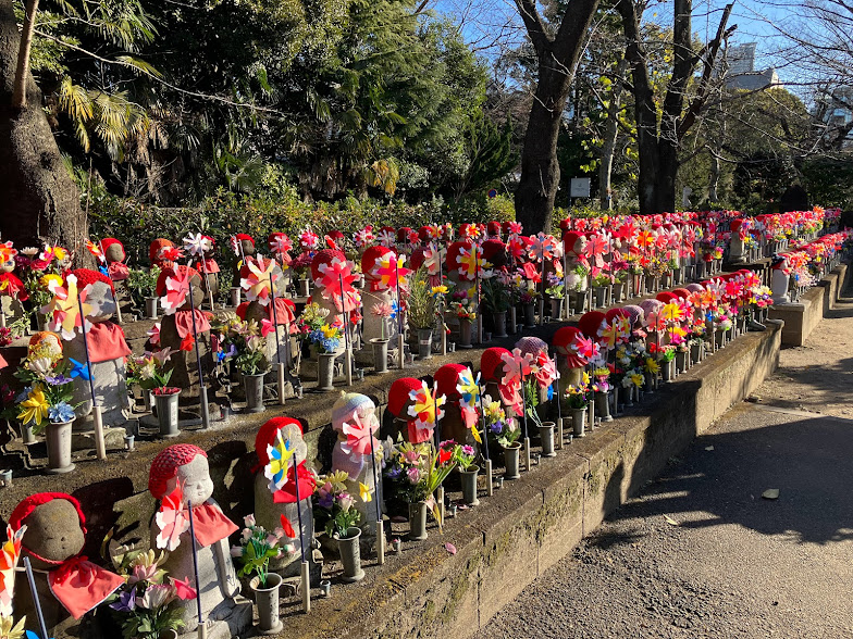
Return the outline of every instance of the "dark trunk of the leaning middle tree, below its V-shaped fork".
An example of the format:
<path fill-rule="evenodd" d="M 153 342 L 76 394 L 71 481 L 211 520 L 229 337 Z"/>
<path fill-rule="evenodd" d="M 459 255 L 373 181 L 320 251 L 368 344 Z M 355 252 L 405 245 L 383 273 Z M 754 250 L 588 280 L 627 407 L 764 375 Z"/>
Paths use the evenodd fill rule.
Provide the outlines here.
<path fill-rule="evenodd" d="M 551 229 L 560 177 L 557 138 L 571 85 L 570 75 L 555 72 L 543 62 L 539 76 L 521 152 L 521 180 L 516 190 L 516 220 L 523 224 L 526 234 Z"/>

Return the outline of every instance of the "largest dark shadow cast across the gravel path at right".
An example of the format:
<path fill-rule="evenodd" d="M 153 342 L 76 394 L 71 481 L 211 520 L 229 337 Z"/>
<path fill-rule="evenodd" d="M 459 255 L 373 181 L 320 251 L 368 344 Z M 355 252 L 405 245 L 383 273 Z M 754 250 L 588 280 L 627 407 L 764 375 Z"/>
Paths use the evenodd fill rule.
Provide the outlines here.
<path fill-rule="evenodd" d="M 701 512 L 712 516 L 681 526 L 737 524 L 801 543 L 853 539 L 852 431 L 850 421 L 817 417 L 704 435 L 642 491 L 655 499 L 631 501 L 611 516 Z M 778 500 L 762 498 L 768 488 L 780 490 Z"/>

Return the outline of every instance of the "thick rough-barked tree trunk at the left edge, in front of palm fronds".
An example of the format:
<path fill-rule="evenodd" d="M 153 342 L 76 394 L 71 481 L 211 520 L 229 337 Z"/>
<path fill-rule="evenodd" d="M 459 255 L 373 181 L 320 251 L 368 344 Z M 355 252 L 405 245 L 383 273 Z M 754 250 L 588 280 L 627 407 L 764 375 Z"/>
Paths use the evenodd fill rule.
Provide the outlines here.
<path fill-rule="evenodd" d="M 0 234 L 3 241 L 12 240 L 18 248 L 38 246 L 41 239 L 85 259 L 86 215 L 29 73 L 26 106 L 12 106 L 20 45 L 12 0 L 0 0 Z"/>

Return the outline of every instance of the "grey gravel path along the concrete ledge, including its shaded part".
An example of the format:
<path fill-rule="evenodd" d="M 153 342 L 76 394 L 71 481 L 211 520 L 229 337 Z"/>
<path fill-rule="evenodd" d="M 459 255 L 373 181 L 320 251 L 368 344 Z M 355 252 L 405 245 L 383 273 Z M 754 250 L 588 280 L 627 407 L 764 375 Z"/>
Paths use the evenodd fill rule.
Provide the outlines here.
<path fill-rule="evenodd" d="M 853 299 L 477 637 L 853 638 L 851 344 Z"/>

